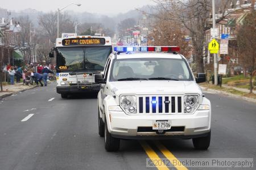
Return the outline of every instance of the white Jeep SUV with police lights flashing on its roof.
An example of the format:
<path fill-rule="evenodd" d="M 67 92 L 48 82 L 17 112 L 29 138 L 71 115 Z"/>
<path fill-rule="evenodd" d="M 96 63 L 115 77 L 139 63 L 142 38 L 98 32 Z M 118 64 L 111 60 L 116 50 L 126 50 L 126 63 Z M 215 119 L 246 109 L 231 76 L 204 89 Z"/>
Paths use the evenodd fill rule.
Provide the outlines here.
<path fill-rule="evenodd" d="M 142 52 L 148 49 L 152 52 Z M 104 74 L 95 76 L 101 84 L 98 132 L 105 136 L 106 151 L 117 151 L 120 139 L 173 138 L 192 139 L 195 148 L 206 150 L 210 101 L 185 57 L 172 47 L 119 47 L 115 51 Z"/>

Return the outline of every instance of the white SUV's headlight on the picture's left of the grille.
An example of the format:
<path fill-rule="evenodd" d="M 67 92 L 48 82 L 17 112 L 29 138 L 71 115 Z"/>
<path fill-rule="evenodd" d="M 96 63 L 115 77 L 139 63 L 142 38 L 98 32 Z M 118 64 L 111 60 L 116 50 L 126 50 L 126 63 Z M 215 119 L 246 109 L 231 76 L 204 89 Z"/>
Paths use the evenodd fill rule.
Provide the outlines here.
<path fill-rule="evenodd" d="M 137 113 L 136 96 L 121 96 L 120 106 L 126 113 Z"/>

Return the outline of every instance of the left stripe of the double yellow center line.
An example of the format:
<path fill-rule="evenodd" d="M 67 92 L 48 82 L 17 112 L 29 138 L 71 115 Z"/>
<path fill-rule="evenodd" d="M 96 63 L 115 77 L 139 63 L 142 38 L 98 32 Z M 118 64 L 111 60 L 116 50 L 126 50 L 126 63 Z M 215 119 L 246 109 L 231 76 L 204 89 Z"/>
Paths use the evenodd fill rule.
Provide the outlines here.
<path fill-rule="evenodd" d="M 170 170 L 164 163 L 163 161 L 160 159 L 160 157 L 156 154 L 156 152 L 154 150 L 152 150 L 152 148 L 144 141 L 141 140 L 139 143 L 141 143 L 141 146 L 143 147 L 143 149 L 146 151 L 146 154 L 148 155 L 148 157 L 152 160 L 152 162 L 154 163 L 155 167 L 158 168 L 159 170 Z M 154 161 L 155 160 L 155 161 Z M 159 160 L 162 161 L 162 163 L 159 164 Z"/>

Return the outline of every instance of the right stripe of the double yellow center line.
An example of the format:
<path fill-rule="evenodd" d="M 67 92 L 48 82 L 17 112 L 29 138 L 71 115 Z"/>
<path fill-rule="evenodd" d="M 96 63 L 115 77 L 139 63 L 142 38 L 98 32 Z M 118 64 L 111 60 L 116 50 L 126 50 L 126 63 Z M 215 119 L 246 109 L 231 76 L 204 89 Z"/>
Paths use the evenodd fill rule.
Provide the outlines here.
<path fill-rule="evenodd" d="M 184 165 L 181 164 L 181 162 L 174 156 L 174 154 L 172 154 L 165 146 L 163 146 L 162 143 L 160 143 L 159 141 L 154 141 L 156 147 L 158 147 L 158 149 L 162 152 L 162 154 L 164 156 L 166 156 L 166 158 L 168 160 L 170 160 L 171 162 L 176 162 L 176 165 L 174 164 L 174 167 L 178 170 L 188 170 L 188 168 L 186 168 Z"/>

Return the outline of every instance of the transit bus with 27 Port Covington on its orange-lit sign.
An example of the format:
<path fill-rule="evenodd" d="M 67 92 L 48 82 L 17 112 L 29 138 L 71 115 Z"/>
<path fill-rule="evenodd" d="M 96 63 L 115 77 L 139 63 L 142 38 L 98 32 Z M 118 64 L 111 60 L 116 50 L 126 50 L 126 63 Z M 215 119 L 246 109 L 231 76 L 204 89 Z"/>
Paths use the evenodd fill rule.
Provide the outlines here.
<path fill-rule="evenodd" d="M 112 53 L 110 37 L 73 36 L 57 38 L 55 48 L 49 57 L 56 53 L 57 93 L 62 98 L 75 93 L 98 92 L 100 84 L 94 76 L 104 71 L 106 60 Z"/>

